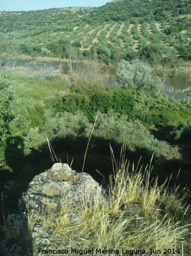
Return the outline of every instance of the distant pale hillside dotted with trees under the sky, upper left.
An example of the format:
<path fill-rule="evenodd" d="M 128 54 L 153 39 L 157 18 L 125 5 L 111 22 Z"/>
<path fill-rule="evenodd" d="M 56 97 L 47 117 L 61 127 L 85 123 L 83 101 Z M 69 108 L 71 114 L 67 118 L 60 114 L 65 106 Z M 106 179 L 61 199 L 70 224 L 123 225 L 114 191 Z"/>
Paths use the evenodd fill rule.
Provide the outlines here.
<path fill-rule="evenodd" d="M 52 25 L 64 25 L 66 21 L 83 17 L 94 8 L 51 8 L 37 11 L 0 12 L 0 31 L 32 33 L 40 28 L 49 28 Z"/>

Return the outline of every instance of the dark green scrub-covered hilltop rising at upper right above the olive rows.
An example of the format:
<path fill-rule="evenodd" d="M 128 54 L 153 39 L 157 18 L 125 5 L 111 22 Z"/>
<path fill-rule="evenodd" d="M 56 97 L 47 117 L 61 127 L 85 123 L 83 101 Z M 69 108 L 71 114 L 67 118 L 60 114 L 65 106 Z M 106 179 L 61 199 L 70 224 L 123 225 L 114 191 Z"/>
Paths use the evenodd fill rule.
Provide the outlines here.
<path fill-rule="evenodd" d="M 103 15 L 104 13 L 104 15 Z M 170 17 L 190 14 L 188 0 L 116 0 L 91 11 L 84 20 L 93 21 L 126 21 L 133 18 L 163 22 Z"/>

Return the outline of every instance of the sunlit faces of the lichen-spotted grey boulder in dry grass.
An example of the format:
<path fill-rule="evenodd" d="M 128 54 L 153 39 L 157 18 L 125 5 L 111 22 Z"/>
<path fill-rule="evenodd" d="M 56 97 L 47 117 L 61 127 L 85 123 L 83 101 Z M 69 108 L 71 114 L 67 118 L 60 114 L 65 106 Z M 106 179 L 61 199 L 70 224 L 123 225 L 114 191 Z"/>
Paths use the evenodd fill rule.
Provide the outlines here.
<path fill-rule="evenodd" d="M 67 164 L 54 164 L 49 170 L 35 176 L 28 189 L 19 200 L 21 211 L 41 211 L 53 213 L 62 205 L 72 209 L 66 213 L 67 220 L 74 225 L 83 220 L 76 212 L 76 208 L 91 206 L 96 200 L 105 200 L 102 188 L 84 172 L 76 172 Z M 81 230 L 79 230 L 81 232 Z M 51 247 L 51 230 L 41 225 L 35 225 L 32 231 L 34 248 L 47 249 Z"/>

